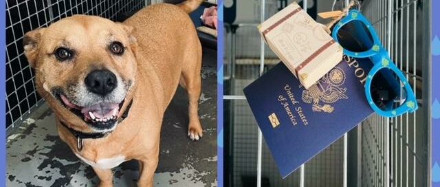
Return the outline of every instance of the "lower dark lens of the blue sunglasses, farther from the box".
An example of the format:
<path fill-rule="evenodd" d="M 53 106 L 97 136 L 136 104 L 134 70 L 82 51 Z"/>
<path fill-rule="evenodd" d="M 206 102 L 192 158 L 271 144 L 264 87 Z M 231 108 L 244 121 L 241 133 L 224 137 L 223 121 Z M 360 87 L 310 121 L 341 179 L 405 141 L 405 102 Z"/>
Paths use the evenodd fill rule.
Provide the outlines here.
<path fill-rule="evenodd" d="M 371 80 L 371 97 L 382 111 L 391 111 L 405 102 L 406 89 L 391 69 L 382 68 Z"/>

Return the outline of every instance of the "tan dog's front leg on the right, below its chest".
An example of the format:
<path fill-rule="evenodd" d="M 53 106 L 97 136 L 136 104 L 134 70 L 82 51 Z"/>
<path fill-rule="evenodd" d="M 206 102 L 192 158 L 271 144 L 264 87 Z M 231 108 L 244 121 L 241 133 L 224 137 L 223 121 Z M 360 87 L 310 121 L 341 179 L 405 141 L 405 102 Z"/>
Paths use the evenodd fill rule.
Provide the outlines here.
<path fill-rule="evenodd" d="M 139 161 L 140 177 L 139 181 L 137 181 L 137 186 L 153 187 L 153 177 L 158 161 L 159 159 L 157 157 L 143 159 Z"/>

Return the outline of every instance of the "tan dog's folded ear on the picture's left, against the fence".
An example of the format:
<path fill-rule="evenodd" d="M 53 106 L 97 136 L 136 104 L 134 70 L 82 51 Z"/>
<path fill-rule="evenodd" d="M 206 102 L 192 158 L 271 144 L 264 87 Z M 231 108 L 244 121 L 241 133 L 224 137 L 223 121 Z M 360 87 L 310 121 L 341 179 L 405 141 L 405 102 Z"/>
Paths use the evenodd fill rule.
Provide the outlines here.
<path fill-rule="evenodd" d="M 29 64 L 35 67 L 36 58 L 38 56 L 38 48 L 41 42 L 41 36 L 45 28 L 39 28 L 32 30 L 25 34 L 23 38 L 23 46 L 25 50 L 25 56 L 28 58 Z"/>

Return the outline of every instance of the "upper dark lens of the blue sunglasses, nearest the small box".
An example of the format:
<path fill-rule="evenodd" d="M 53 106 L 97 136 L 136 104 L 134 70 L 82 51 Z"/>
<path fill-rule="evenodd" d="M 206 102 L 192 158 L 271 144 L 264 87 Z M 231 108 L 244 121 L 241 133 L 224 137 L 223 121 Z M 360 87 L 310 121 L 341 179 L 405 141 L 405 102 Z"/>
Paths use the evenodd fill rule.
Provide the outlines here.
<path fill-rule="evenodd" d="M 373 47 L 373 36 L 362 21 L 354 20 L 338 30 L 338 41 L 351 52 L 366 52 Z"/>

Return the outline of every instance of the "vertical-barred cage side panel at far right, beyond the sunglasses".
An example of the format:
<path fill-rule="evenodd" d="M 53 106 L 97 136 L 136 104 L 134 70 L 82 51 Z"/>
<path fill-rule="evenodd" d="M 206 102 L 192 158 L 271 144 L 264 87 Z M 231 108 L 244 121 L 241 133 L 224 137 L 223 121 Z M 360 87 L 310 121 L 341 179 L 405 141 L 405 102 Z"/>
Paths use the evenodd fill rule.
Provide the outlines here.
<path fill-rule="evenodd" d="M 423 10 L 419 0 L 371 0 L 362 12 L 371 21 L 391 59 L 415 91 L 419 110 L 397 118 L 373 115 L 362 123 L 362 186 L 428 186 L 427 125 L 423 122 Z"/>

